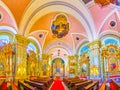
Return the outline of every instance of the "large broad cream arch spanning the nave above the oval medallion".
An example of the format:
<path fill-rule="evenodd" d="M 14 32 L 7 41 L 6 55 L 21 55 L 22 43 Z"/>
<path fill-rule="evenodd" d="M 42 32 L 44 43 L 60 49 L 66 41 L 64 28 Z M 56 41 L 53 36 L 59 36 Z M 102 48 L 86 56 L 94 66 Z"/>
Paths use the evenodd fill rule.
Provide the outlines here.
<path fill-rule="evenodd" d="M 33 4 L 31 4 L 29 6 L 28 10 L 26 11 L 26 13 L 24 14 L 24 16 L 22 18 L 22 22 L 20 24 L 20 30 L 22 32 L 20 32 L 20 33 L 26 35 L 29 32 L 32 24 L 34 22 L 36 22 L 40 17 L 42 17 L 45 14 L 48 14 L 50 12 L 56 12 L 56 11 L 59 12 L 60 11 L 60 12 L 68 13 L 68 14 L 76 17 L 78 19 L 78 21 L 80 21 L 82 23 L 82 25 L 85 27 L 86 32 L 89 36 L 89 40 L 94 39 L 96 36 L 96 33 L 95 33 L 95 26 L 93 24 L 93 20 L 92 20 L 92 18 L 90 18 L 90 15 L 89 15 L 88 11 L 86 10 L 86 8 L 79 1 L 77 1 L 77 2 L 72 3 L 70 1 L 54 1 L 54 0 L 51 0 L 51 2 L 46 2 L 46 1 L 45 2 L 41 2 L 41 1 L 35 2 L 34 1 Z M 37 4 L 40 3 L 40 4 L 39 4 L 39 6 L 35 6 L 36 5 L 35 3 L 37 3 Z M 57 8 L 57 10 L 56 10 L 56 7 L 60 6 L 60 5 L 61 5 L 61 7 Z M 34 8 L 33 8 L 33 6 L 34 6 Z M 32 8 L 32 11 L 30 13 L 29 10 L 31 8 Z M 52 9 L 52 8 L 54 8 L 54 9 Z M 67 8 L 67 9 L 64 9 L 64 8 Z M 29 14 L 27 14 L 27 13 L 29 13 Z M 23 25 L 25 27 L 23 27 Z M 25 31 L 25 30 L 28 30 L 28 31 Z"/>

